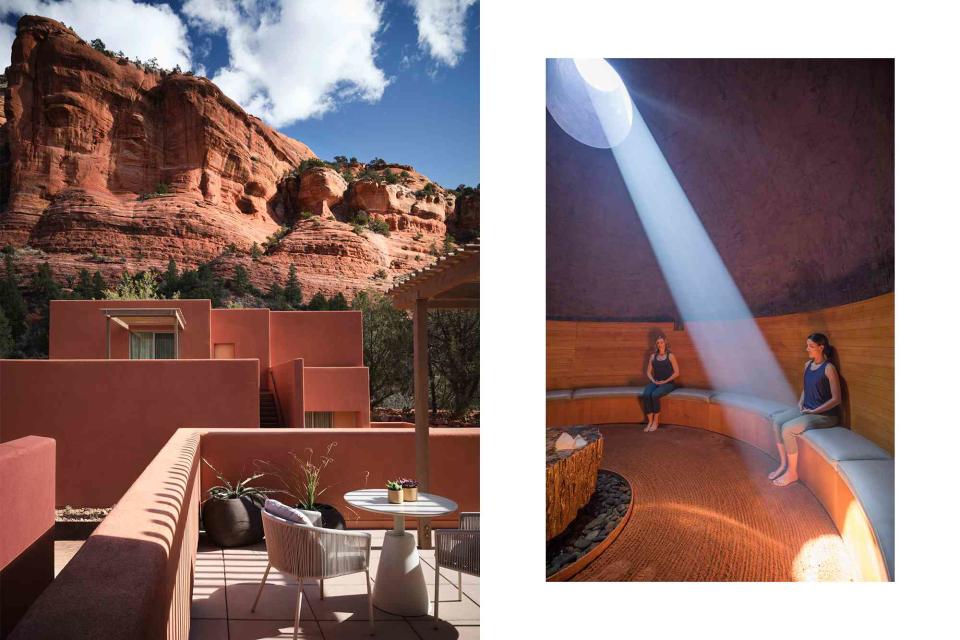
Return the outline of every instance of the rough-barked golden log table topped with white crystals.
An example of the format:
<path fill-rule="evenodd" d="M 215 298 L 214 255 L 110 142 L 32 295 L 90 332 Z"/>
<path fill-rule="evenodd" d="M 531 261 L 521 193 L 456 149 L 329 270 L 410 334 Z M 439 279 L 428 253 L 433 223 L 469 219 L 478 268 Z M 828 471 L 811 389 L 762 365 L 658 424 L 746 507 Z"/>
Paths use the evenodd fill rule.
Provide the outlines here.
<path fill-rule="evenodd" d="M 587 444 L 556 451 L 557 438 L 563 433 L 581 436 Z M 547 540 L 563 533 L 590 501 L 602 460 L 603 436 L 597 427 L 547 429 Z"/>

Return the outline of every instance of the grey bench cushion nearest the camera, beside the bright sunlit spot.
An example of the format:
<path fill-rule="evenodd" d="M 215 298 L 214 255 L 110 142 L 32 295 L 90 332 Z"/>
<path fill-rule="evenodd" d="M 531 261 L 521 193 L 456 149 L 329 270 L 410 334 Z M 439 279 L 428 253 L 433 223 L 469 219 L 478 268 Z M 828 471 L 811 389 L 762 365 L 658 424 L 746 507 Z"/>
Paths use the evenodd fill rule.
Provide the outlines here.
<path fill-rule="evenodd" d="M 873 526 L 888 577 L 893 580 L 893 460 L 848 460 L 838 468 Z"/>

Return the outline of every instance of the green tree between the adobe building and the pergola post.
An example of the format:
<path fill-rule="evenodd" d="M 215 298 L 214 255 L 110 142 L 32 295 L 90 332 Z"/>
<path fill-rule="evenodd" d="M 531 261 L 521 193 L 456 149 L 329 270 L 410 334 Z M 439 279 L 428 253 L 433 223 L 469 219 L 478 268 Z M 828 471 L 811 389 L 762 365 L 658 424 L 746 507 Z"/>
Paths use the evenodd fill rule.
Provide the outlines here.
<path fill-rule="evenodd" d="M 413 394 L 413 322 L 378 291 L 361 291 L 350 308 L 363 313 L 363 363 L 370 369 L 370 404 Z"/>

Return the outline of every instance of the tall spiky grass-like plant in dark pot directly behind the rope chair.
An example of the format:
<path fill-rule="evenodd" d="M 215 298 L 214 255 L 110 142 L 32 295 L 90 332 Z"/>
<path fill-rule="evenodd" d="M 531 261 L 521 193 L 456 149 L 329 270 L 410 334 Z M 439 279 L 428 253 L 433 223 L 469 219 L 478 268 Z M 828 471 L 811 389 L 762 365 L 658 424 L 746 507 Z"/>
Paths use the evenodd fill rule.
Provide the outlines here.
<path fill-rule="evenodd" d="M 320 496 L 334 486 L 333 484 L 322 486 L 321 476 L 323 470 L 333 462 L 330 452 L 335 446 L 337 446 L 336 442 L 330 443 L 326 454 L 321 455 L 316 462 L 313 460 L 313 449 L 310 447 L 304 449 L 306 453 L 302 458 L 291 451 L 292 469 L 280 469 L 263 461 L 260 463 L 265 466 L 268 475 L 277 478 L 283 485 L 284 489 L 280 493 L 293 498 L 294 507 L 302 511 L 314 526 L 322 526 L 325 529 L 346 529 L 347 523 L 343 514 L 332 504 L 320 502 Z"/>

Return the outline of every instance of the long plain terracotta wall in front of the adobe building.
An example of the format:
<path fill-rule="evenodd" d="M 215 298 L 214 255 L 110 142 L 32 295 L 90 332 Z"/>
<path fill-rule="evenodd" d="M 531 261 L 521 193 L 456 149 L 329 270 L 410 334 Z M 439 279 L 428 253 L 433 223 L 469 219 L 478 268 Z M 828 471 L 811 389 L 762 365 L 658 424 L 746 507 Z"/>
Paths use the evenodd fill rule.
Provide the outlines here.
<path fill-rule="evenodd" d="M 57 504 L 110 506 L 181 427 L 260 426 L 256 360 L 3 360 L 0 440 L 57 441 Z"/>

